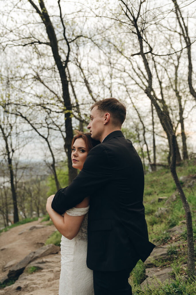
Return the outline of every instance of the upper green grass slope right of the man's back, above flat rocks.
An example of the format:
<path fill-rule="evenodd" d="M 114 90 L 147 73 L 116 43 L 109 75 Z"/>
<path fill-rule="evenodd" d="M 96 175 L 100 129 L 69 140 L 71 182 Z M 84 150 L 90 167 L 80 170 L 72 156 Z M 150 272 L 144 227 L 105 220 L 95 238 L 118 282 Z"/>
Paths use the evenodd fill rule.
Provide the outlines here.
<path fill-rule="evenodd" d="M 193 173 L 195 173 L 195 165 L 193 162 L 177 167 L 178 177 Z M 194 221 L 196 219 L 196 186 L 190 188 L 185 187 L 183 184 L 183 190 L 189 202 L 192 211 L 192 220 Z M 161 196 L 170 197 L 174 193 L 177 196 L 176 201 L 170 202 L 170 205 L 167 206 L 168 211 L 165 214 L 156 217 L 154 213 L 158 208 L 165 207 L 165 201 L 158 202 L 158 198 Z M 176 225 L 180 225 L 180 221 L 185 220 L 185 211 L 182 201 L 176 191 L 175 183 L 169 169 L 163 168 L 145 176 L 144 206 L 149 239 L 155 242 L 155 244 L 163 243 L 163 241 L 167 242 L 170 239 L 167 230 Z M 194 222 L 193 227 L 195 232 Z"/>

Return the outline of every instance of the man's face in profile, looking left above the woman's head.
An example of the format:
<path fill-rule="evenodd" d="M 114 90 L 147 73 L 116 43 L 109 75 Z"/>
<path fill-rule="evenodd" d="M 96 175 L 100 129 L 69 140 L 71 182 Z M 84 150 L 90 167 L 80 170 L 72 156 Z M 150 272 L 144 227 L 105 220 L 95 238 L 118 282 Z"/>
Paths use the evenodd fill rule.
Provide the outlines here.
<path fill-rule="evenodd" d="M 88 124 L 87 128 L 90 129 L 91 136 L 95 140 L 101 140 L 104 131 L 104 114 L 98 110 L 95 106 L 91 111 L 91 122 Z"/>

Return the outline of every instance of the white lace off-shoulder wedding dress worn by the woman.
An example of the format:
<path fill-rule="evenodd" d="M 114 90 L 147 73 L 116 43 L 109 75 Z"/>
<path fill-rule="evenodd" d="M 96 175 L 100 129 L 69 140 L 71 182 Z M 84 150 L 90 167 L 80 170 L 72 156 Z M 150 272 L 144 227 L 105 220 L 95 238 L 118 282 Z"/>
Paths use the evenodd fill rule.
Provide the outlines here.
<path fill-rule="evenodd" d="M 74 207 L 66 213 L 71 216 L 81 216 L 86 214 L 88 209 L 89 206 Z M 93 271 L 86 266 L 87 222 L 88 213 L 76 237 L 68 240 L 62 235 L 59 295 L 94 295 Z"/>

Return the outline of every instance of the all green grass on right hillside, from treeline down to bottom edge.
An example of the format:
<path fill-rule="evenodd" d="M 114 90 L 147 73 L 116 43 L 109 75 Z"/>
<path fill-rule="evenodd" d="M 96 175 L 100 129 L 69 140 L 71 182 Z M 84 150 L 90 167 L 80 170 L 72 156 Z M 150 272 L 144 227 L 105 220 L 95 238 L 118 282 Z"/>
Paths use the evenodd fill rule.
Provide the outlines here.
<path fill-rule="evenodd" d="M 185 163 L 177 167 L 178 177 L 195 174 L 195 165 L 193 161 Z M 193 222 L 193 237 L 196 240 L 196 185 L 187 187 L 186 183 L 181 182 L 183 191 L 189 202 L 192 212 Z M 158 202 L 159 197 L 166 196 L 169 198 L 175 194 L 176 200 L 170 201 L 170 204 L 165 204 L 165 200 Z M 176 191 L 176 186 L 173 181 L 169 169 L 163 168 L 156 172 L 145 175 L 145 190 L 144 190 L 144 206 L 145 217 L 148 224 L 149 240 L 155 245 L 170 243 L 171 246 L 167 250 L 169 258 L 152 259 L 151 266 L 154 267 L 172 267 L 172 273 L 175 275 L 175 281 L 159 283 L 159 286 L 148 286 L 146 290 L 141 290 L 140 283 L 145 279 L 145 265 L 141 261 L 137 263 L 130 275 L 130 283 L 132 285 L 133 294 L 136 295 L 195 295 L 196 284 L 191 278 L 183 279 L 187 274 L 187 270 L 182 268 L 182 264 L 187 263 L 187 231 L 186 224 L 181 221 L 185 220 L 185 211 L 180 200 L 180 196 Z M 167 208 L 167 212 L 156 216 L 155 212 L 158 208 Z M 184 226 L 184 232 L 181 235 L 174 237 L 175 242 L 181 242 L 178 246 L 172 245 L 173 234 L 168 230 L 174 226 Z M 196 245 L 195 245 L 196 254 Z"/>

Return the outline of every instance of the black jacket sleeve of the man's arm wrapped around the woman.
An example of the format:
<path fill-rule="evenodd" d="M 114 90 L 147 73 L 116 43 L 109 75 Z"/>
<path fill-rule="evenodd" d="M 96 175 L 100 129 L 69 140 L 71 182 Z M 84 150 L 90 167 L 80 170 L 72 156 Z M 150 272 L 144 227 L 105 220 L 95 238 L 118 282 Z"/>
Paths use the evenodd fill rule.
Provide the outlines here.
<path fill-rule="evenodd" d="M 55 194 L 52 208 L 62 214 L 81 203 L 87 196 L 103 186 L 111 177 L 107 151 L 102 144 L 97 145 L 87 155 L 83 169 L 72 183 Z"/>

